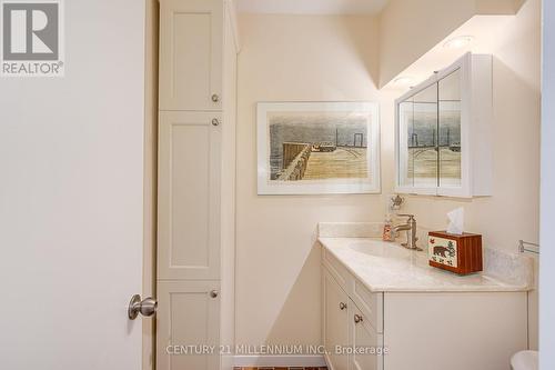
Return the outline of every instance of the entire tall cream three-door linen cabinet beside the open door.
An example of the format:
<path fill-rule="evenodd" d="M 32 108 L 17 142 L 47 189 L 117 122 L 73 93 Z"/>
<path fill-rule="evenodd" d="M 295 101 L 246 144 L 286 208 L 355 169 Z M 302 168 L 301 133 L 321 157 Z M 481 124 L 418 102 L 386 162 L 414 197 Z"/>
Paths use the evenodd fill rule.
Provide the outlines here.
<path fill-rule="evenodd" d="M 238 52 L 232 1 L 160 0 L 159 370 L 232 368 Z"/>

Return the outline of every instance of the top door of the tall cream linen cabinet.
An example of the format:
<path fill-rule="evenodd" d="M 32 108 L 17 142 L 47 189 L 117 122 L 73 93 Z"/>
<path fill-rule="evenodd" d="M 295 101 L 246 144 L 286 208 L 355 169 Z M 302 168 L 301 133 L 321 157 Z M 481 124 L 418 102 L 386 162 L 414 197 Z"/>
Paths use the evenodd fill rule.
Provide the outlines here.
<path fill-rule="evenodd" d="M 220 110 L 223 1 L 160 1 L 160 110 Z"/>

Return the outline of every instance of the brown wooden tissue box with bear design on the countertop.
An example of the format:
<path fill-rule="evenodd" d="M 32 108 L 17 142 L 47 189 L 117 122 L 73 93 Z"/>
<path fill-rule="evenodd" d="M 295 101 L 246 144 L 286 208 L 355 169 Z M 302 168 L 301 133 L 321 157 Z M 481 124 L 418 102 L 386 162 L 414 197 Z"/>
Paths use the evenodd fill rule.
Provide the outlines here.
<path fill-rule="evenodd" d="M 427 234 L 430 266 L 468 274 L 482 271 L 482 236 L 476 233 L 451 234 L 431 231 Z"/>

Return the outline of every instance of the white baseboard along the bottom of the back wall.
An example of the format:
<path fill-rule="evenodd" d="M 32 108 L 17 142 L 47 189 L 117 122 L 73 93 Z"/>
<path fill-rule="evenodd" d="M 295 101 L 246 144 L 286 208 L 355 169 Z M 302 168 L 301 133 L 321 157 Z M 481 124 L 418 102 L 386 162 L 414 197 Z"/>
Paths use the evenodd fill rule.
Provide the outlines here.
<path fill-rule="evenodd" d="M 320 368 L 325 367 L 325 360 L 320 354 L 305 356 L 235 356 L 233 361 L 235 367 L 300 367 L 300 368 Z"/>

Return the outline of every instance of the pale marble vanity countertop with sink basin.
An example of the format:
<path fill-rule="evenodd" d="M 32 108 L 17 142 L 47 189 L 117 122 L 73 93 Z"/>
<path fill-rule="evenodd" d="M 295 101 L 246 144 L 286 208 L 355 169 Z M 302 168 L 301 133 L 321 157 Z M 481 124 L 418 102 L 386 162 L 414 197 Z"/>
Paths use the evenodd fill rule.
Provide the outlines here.
<path fill-rule="evenodd" d="M 377 238 L 320 237 L 320 243 L 374 292 L 527 291 L 527 282 L 511 282 L 486 272 L 470 276 L 428 266 L 427 254 Z"/>

